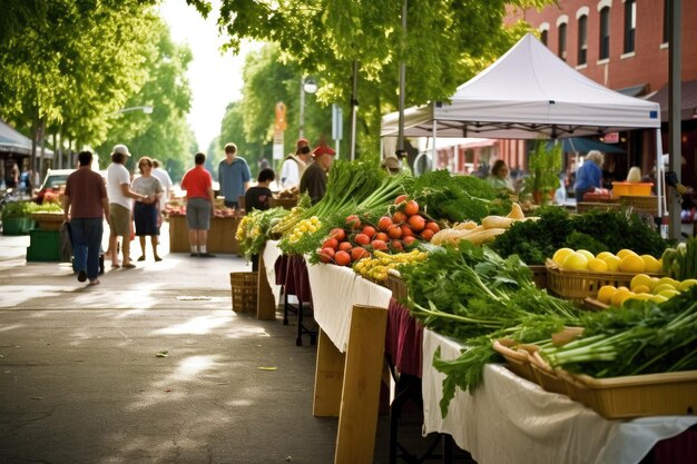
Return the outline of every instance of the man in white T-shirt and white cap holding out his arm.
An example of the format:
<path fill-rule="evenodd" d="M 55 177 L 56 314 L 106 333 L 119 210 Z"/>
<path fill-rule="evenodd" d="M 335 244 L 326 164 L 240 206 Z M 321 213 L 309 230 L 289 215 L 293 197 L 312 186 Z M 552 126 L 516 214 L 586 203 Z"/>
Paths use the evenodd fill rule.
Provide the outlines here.
<path fill-rule="evenodd" d="M 147 196 L 130 189 L 130 174 L 126 169 L 126 159 L 130 156 L 125 145 L 114 146 L 111 164 L 107 168 L 107 194 L 109 196 L 109 255 L 111 267 L 118 264 L 118 237 L 122 237 L 122 266 L 126 269 L 136 267 L 130 260 L 131 205 L 130 199 L 145 201 Z"/>

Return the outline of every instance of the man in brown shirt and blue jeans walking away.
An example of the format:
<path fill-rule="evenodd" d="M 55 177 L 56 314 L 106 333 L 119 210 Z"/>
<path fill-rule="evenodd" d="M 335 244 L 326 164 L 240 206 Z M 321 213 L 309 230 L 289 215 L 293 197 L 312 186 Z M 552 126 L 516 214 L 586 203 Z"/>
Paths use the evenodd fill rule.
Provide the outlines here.
<path fill-rule="evenodd" d="M 107 187 L 99 172 L 92 170 L 92 152 L 78 154 L 78 169 L 68 176 L 63 194 L 63 220 L 70 224 L 73 269 L 78 282 L 99 284 L 99 255 L 104 236 L 104 218 L 109 217 Z"/>

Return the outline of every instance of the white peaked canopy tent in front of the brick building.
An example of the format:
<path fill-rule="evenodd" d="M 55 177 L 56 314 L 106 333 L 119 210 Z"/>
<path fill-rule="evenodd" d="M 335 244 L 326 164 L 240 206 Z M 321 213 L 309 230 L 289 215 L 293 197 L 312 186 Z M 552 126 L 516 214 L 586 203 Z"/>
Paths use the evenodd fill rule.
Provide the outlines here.
<path fill-rule="evenodd" d="M 531 33 L 460 86 L 450 100 L 405 109 L 404 136 L 532 139 L 656 129 L 657 157 L 662 155 L 658 103 L 588 79 Z M 381 128 L 382 137 L 397 134 L 399 111 L 384 116 Z M 660 197 L 662 176 L 657 179 Z"/>

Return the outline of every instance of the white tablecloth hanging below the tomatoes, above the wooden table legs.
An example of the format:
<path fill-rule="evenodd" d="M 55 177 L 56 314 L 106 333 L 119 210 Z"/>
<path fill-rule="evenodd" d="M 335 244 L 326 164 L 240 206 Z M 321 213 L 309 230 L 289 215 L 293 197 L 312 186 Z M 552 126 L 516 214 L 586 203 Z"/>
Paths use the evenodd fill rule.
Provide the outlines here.
<path fill-rule="evenodd" d="M 353 305 L 387 308 L 392 292 L 347 267 L 307 266 L 314 318 L 340 352 L 346 352 Z"/>

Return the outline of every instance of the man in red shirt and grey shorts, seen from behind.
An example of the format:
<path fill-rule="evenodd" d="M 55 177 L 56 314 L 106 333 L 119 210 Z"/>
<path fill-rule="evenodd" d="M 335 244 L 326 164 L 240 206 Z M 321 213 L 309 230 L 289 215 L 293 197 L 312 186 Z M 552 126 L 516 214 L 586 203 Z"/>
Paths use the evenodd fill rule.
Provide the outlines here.
<path fill-rule="evenodd" d="M 204 168 L 206 155 L 198 152 L 194 157 L 194 167 L 187 170 L 181 178 L 181 189 L 186 190 L 186 224 L 189 228 L 189 246 L 192 256 L 213 258 L 208 253 L 208 229 L 210 215 L 215 210 L 213 196 L 213 178 Z"/>

